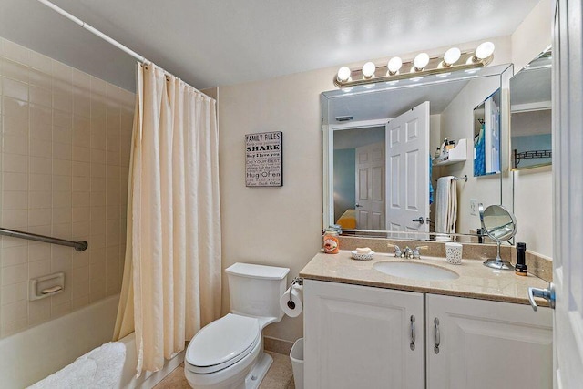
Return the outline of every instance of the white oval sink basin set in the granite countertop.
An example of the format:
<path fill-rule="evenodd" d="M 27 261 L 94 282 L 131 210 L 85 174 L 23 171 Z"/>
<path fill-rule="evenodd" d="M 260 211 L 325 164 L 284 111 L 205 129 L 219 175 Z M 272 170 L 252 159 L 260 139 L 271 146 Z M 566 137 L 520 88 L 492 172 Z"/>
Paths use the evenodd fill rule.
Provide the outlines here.
<path fill-rule="evenodd" d="M 413 261 L 381 261 L 374 263 L 373 268 L 394 277 L 411 280 L 445 281 L 455 280 L 459 277 L 455 271 Z"/>

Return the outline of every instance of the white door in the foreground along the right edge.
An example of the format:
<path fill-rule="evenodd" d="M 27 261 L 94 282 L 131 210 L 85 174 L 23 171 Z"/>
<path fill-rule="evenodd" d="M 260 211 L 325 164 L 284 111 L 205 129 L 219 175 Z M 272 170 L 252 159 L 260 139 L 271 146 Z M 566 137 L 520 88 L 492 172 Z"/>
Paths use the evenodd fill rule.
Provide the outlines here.
<path fill-rule="evenodd" d="M 553 42 L 553 282 L 557 389 L 583 387 L 583 9 L 555 2 Z"/>

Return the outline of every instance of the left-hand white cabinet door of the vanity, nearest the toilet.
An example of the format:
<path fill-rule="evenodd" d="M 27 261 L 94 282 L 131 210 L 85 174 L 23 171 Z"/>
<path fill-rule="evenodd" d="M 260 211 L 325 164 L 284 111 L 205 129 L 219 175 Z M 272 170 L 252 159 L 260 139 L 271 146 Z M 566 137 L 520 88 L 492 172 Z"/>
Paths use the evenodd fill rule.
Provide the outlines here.
<path fill-rule="evenodd" d="M 306 389 L 424 387 L 422 293 L 312 280 L 303 292 Z"/>

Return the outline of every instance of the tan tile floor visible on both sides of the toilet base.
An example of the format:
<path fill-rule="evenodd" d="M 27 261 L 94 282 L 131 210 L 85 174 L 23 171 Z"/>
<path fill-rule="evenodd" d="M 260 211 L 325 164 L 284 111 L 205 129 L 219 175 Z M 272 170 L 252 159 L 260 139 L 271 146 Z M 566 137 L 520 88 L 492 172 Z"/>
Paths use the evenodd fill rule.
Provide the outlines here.
<path fill-rule="evenodd" d="M 289 355 L 269 353 L 273 357 L 270 370 L 263 378 L 260 389 L 295 389 L 293 384 L 292 361 Z M 189 389 L 189 383 L 184 376 L 184 363 L 174 369 L 154 389 Z"/>

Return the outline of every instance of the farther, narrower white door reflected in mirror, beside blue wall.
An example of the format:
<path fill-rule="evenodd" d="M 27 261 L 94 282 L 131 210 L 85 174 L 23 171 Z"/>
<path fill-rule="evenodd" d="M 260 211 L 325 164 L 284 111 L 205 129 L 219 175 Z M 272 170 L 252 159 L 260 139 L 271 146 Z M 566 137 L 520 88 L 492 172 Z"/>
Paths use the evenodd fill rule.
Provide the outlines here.
<path fill-rule="evenodd" d="M 356 228 L 384 230 L 384 142 L 356 148 Z"/>

